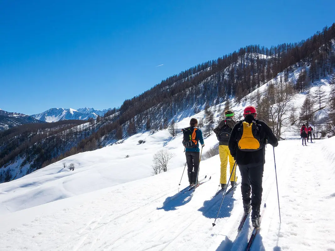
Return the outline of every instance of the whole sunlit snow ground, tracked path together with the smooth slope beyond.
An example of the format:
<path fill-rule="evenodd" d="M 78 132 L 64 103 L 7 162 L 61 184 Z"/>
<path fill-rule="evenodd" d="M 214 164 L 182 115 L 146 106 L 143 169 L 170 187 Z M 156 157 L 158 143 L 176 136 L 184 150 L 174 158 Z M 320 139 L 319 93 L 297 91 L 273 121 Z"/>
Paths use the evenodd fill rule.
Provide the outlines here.
<path fill-rule="evenodd" d="M 178 193 L 188 184 L 185 172 L 178 186 L 185 164 L 181 137 L 171 139 L 167 130 L 135 135 L 0 184 L 1 250 L 244 250 L 251 230 L 248 219 L 237 236 L 240 186 L 234 198 L 225 198 L 212 227 L 221 202 L 211 198 L 219 183 L 218 156 L 200 163 L 200 177 L 211 181 L 193 194 Z M 139 145 L 139 139 L 146 142 Z M 213 135 L 204 141 L 204 151 L 216 143 Z M 275 148 L 281 224 L 268 145 L 267 208 L 252 250 L 334 250 L 334 144 L 335 137 L 308 146 L 291 139 Z M 175 158 L 168 172 L 150 176 L 152 155 L 162 147 Z M 62 162 L 74 163 L 75 170 L 63 169 Z"/>

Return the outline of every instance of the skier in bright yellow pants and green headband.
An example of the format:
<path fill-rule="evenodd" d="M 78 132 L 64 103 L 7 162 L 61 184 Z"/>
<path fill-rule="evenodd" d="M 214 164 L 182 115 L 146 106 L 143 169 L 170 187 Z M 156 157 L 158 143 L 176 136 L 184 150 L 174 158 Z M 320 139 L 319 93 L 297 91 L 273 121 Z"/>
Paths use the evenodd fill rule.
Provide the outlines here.
<path fill-rule="evenodd" d="M 213 132 L 216 134 L 216 138 L 219 141 L 219 156 L 221 161 L 221 175 L 220 175 L 220 184 L 221 188 L 224 189 L 227 185 L 227 164 L 229 159 L 229 166 L 230 171 L 229 174 L 232 171 L 232 168 L 234 166 L 234 159 L 230 154 L 229 148 L 228 148 L 228 141 L 230 137 L 231 130 L 236 124 L 236 120 L 234 120 L 234 112 L 232 110 L 226 110 L 224 111 L 225 118 L 220 121 L 218 126 L 214 128 Z M 234 168 L 234 172 L 231 175 L 230 183 L 231 186 L 236 185 L 237 177 L 235 178 L 235 171 L 236 168 Z M 235 179 L 234 179 L 235 178 Z"/>

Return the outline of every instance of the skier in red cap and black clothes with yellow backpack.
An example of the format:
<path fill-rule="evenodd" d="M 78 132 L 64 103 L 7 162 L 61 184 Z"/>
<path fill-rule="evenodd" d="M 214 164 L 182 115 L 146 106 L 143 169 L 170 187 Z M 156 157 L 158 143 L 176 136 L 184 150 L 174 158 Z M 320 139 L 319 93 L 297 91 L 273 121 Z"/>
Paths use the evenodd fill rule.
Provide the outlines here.
<path fill-rule="evenodd" d="M 241 172 L 244 212 L 249 213 L 251 205 L 252 225 L 259 227 L 265 145 L 270 143 L 276 147 L 278 140 L 264 121 L 255 119 L 257 116 L 255 107 L 247 106 L 243 116 L 244 120 L 239 121 L 231 131 L 228 147 Z"/>

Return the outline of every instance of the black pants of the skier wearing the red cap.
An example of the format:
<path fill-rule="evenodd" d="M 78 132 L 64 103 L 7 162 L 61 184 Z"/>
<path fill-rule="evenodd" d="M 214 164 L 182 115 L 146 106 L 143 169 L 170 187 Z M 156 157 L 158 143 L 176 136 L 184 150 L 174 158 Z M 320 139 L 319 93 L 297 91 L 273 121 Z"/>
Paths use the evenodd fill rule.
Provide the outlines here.
<path fill-rule="evenodd" d="M 241 191 L 244 204 L 249 204 L 253 211 L 260 211 L 262 202 L 262 180 L 264 164 L 239 165 L 242 177 Z M 251 193 L 251 198 L 250 198 Z"/>

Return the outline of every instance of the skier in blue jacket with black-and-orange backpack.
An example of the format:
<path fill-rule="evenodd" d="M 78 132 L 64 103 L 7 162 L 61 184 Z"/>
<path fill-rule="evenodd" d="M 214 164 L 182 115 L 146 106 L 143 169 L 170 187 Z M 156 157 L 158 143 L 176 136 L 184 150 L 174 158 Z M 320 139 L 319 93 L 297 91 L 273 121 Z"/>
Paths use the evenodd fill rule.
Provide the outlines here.
<path fill-rule="evenodd" d="M 199 141 L 202 147 L 205 146 L 202 132 L 197 126 L 198 120 L 191 118 L 190 127 L 182 129 L 184 134 L 183 145 L 185 147 L 187 174 L 191 186 L 197 182 L 200 161 Z"/>

